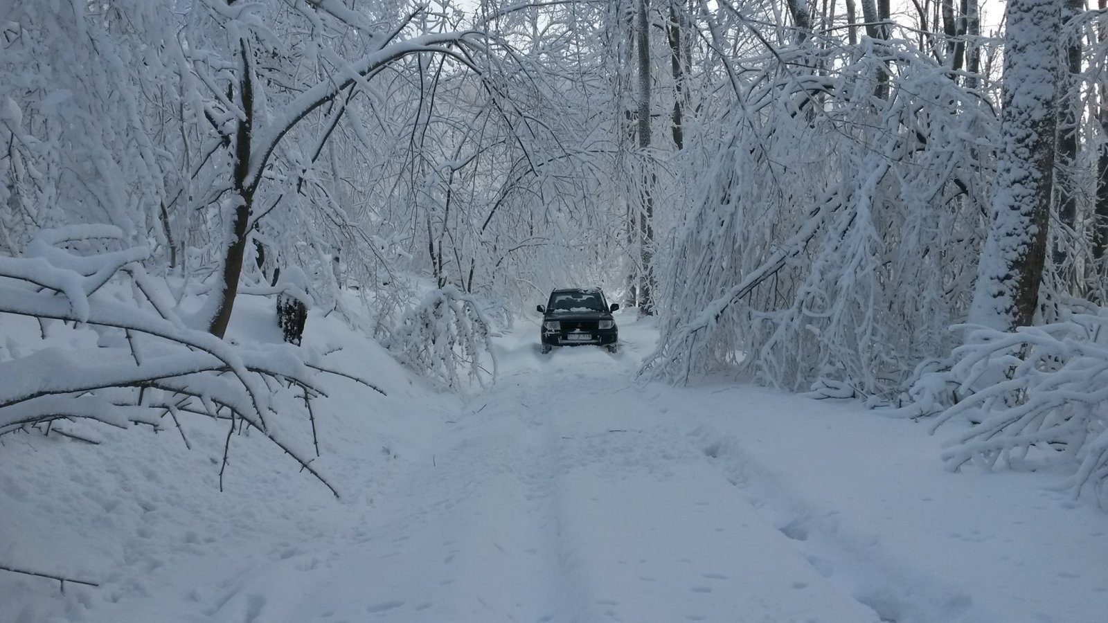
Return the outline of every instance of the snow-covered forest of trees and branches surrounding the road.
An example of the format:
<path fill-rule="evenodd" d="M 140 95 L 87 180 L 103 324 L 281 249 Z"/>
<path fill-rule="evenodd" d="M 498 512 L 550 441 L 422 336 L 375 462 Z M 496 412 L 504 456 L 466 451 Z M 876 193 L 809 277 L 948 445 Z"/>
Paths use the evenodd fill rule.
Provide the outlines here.
<path fill-rule="evenodd" d="M 860 4 L 4 2 L 0 440 L 214 418 L 312 471 L 283 422 L 373 379 L 236 303 L 462 390 L 598 285 L 657 319 L 639 378 L 965 420 L 948 469 L 1108 504 L 1104 0 Z"/>

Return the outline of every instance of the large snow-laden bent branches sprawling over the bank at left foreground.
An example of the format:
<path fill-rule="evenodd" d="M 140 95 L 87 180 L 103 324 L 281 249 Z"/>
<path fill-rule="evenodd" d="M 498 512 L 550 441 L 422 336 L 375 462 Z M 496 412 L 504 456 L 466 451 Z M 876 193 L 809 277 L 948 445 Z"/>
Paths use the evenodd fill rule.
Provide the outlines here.
<path fill-rule="evenodd" d="M 307 445 L 316 372 L 329 370 L 291 346 L 189 328 L 143 268 L 148 251 L 125 239 L 110 225 L 71 226 L 40 232 L 21 257 L 0 256 L 0 321 L 41 328 L 39 346 L 0 360 L 0 436 L 86 419 L 176 429 L 187 445 L 179 418 L 203 416 L 227 421 L 220 482 L 232 433 L 255 428 L 326 484 Z M 74 346 L 88 329 L 95 344 Z M 53 347 L 62 331 L 65 346 Z"/>

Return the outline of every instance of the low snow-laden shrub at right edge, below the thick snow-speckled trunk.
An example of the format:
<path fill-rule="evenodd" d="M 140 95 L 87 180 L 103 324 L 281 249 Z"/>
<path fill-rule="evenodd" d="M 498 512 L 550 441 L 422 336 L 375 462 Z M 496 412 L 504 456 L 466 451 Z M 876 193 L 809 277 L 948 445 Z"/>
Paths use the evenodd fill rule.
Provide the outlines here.
<path fill-rule="evenodd" d="M 932 431 L 971 422 L 943 451 L 948 469 L 1068 466 L 1075 497 L 1091 491 L 1108 504 L 1108 309 L 1014 333 L 973 330 L 950 369 L 917 386 L 917 412 L 942 410 Z M 952 397 L 961 400 L 944 405 Z"/>

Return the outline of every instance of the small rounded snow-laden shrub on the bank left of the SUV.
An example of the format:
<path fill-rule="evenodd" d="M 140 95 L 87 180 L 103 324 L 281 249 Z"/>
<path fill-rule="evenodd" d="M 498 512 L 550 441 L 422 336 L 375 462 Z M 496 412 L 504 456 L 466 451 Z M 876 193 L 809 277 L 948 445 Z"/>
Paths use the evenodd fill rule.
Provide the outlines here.
<path fill-rule="evenodd" d="M 401 364 L 451 389 L 484 387 L 496 375 L 489 321 L 478 302 L 453 286 L 423 297 L 384 344 Z"/>

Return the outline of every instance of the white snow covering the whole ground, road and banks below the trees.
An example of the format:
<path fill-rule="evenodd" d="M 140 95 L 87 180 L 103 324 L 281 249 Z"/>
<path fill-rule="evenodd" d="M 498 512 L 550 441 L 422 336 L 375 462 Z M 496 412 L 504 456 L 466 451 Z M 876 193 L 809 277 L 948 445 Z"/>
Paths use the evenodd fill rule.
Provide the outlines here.
<path fill-rule="evenodd" d="M 278 339 L 268 302 L 239 339 Z M 1108 621 L 1108 517 L 1057 474 L 951 474 L 924 423 L 766 389 L 634 380 L 622 350 L 543 356 L 537 318 L 496 340 L 501 377 L 432 391 L 334 319 L 381 397 L 328 379 L 317 467 L 264 440 L 83 430 L 0 446 L 0 622 Z"/>

